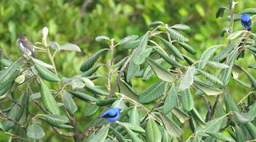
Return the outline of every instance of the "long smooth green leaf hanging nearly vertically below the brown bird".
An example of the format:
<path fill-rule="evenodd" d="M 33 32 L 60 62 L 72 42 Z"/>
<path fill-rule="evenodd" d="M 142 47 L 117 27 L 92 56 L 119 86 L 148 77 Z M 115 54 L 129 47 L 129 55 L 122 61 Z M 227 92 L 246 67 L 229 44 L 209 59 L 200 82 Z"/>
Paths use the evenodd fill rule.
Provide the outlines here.
<path fill-rule="evenodd" d="M 53 97 L 53 95 L 50 93 L 50 89 L 46 86 L 46 84 L 40 80 L 41 85 L 41 97 L 42 97 L 42 103 L 45 105 L 46 109 L 53 113 L 53 114 L 60 114 L 58 105 Z"/>

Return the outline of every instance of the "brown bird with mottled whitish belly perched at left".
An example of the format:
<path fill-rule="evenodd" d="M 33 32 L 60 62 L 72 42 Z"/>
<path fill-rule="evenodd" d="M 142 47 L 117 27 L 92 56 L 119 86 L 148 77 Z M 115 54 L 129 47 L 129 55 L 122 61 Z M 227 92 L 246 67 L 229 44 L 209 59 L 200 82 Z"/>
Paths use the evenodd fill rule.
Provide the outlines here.
<path fill-rule="evenodd" d="M 35 49 L 33 44 L 26 39 L 26 34 L 20 34 L 17 40 L 18 49 L 26 55 L 35 57 Z"/>

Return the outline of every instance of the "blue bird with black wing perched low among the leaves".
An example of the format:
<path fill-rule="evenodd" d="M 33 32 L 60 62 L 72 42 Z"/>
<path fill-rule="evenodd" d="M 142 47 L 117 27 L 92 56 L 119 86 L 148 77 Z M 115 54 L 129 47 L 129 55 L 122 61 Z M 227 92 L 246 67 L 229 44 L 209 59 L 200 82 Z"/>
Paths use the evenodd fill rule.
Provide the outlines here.
<path fill-rule="evenodd" d="M 101 118 L 106 118 L 106 120 L 110 122 L 114 122 L 119 119 L 120 111 L 121 111 L 121 108 L 118 108 L 118 107 L 112 108 L 104 112 Z"/>

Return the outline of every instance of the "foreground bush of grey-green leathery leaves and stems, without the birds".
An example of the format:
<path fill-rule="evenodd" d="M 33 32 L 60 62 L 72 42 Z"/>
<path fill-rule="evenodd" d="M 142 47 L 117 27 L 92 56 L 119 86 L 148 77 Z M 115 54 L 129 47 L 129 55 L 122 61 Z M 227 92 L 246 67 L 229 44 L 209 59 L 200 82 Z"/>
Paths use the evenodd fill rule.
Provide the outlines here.
<path fill-rule="evenodd" d="M 197 61 L 190 60 L 197 50 L 182 33 L 189 33 L 190 27 L 158 21 L 140 37 L 130 35 L 119 41 L 96 37 L 109 47 L 88 57 L 79 68 L 82 73 L 73 77 L 59 77 L 56 55 L 62 50 L 81 49 L 74 44 L 48 44 L 48 29 L 43 28 L 42 42 L 35 48 L 40 55 L 47 55 L 50 64 L 26 55 L 16 61 L 8 57 L 0 60 L 4 66 L 0 71 L 0 103 L 4 106 L 0 110 L 0 131 L 10 135 L 10 140 L 26 141 L 44 140 L 49 127 L 57 136 L 74 141 L 255 140 L 256 80 L 252 69 L 246 69 L 243 63 L 250 63 L 249 68 L 255 66 L 249 60 L 250 54 L 256 58 L 255 35 L 234 30 L 234 22 L 241 14 L 256 14 L 256 10 L 235 14 L 236 4 L 229 0 L 229 6 L 221 6 L 216 14 L 219 18 L 224 17 L 224 11 L 229 12 L 230 26 L 222 30 L 228 34 L 229 43 L 210 46 Z M 118 49 L 128 52 L 120 61 L 115 56 Z M 103 54 L 109 60 L 99 64 Z M 106 76 L 96 74 L 100 67 L 107 70 Z M 227 90 L 232 79 L 250 89 L 238 103 Z M 154 84 L 137 93 L 134 81 L 138 80 Z M 49 82 L 55 82 L 58 89 Z M 210 97 L 215 101 L 208 101 Z M 205 103 L 200 107 L 206 109 L 206 116 L 198 109 L 200 100 Z M 87 104 L 84 116 L 94 118 L 89 126 L 77 119 L 76 112 L 83 107 L 78 102 Z M 149 109 L 148 104 L 153 107 Z M 114 107 L 122 108 L 118 121 L 110 124 L 99 118 Z M 185 133 L 188 123 L 190 136 Z"/>

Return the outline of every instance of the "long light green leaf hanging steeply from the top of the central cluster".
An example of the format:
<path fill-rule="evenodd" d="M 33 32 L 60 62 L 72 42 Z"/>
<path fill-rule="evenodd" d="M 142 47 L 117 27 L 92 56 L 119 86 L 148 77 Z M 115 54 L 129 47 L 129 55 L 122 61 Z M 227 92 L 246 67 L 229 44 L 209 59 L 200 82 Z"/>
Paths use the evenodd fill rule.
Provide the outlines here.
<path fill-rule="evenodd" d="M 132 61 L 134 62 L 135 65 L 142 65 L 142 63 L 144 63 L 146 59 L 145 51 L 149 35 L 150 32 L 146 32 L 146 34 L 144 34 L 138 45 L 138 48 L 134 51 L 135 53 Z"/>

